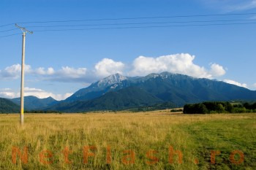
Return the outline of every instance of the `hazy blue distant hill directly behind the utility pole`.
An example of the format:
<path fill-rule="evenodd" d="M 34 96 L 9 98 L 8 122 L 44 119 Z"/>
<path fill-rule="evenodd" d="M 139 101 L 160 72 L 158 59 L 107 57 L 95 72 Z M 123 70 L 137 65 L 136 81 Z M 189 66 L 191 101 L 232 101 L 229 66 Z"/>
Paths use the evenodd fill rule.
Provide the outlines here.
<path fill-rule="evenodd" d="M 10 99 L 15 104 L 20 106 L 20 98 L 12 98 Z M 24 107 L 25 109 L 42 109 L 45 107 L 53 106 L 57 104 L 58 101 L 55 99 L 48 97 L 48 98 L 37 98 L 35 96 L 25 96 L 24 97 Z"/>

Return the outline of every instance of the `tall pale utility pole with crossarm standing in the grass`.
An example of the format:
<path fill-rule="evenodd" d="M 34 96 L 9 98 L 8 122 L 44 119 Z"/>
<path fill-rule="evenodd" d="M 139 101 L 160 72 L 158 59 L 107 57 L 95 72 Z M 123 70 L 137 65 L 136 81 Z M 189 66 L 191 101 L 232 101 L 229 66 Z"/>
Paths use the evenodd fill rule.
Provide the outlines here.
<path fill-rule="evenodd" d="M 24 69 L 25 69 L 25 41 L 26 41 L 26 33 L 33 34 L 32 31 L 28 31 L 24 27 L 20 27 L 15 24 L 17 28 L 23 32 L 23 39 L 22 39 L 22 59 L 21 59 L 21 83 L 20 83 L 20 125 L 23 125 L 24 122 Z"/>

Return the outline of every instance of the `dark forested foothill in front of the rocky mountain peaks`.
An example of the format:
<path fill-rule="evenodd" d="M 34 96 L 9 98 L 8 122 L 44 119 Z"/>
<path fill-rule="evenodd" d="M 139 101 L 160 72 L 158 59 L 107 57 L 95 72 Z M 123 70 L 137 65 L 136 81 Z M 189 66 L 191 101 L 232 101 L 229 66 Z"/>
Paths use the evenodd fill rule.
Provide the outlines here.
<path fill-rule="evenodd" d="M 62 112 L 85 112 L 92 110 L 119 110 L 161 103 L 162 100 L 137 87 L 110 91 L 90 101 L 56 104 L 48 109 Z"/>

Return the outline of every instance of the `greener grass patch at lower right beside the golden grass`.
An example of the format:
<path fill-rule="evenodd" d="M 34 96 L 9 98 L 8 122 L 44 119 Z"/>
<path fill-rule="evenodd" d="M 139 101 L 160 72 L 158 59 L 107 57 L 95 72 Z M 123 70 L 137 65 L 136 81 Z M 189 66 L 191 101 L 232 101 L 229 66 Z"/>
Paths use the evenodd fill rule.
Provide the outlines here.
<path fill-rule="evenodd" d="M 210 120 L 183 126 L 197 147 L 200 169 L 255 169 L 256 123 L 255 117 L 232 120 Z M 216 163 L 211 164 L 211 150 L 219 150 Z M 244 153 L 244 163 L 230 161 L 234 150 Z M 236 160 L 239 156 L 236 155 Z"/>

